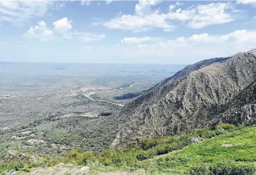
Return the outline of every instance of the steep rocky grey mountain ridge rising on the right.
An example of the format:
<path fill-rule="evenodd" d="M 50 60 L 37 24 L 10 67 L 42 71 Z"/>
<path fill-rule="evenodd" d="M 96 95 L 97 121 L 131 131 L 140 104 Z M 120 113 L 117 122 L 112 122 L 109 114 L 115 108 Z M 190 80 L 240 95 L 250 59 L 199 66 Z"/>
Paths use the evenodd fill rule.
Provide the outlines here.
<path fill-rule="evenodd" d="M 256 49 L 189 65 L 125 105 L 111 146 L 167 136 L 220 122 L 252 124 L 256 117 Z"/>

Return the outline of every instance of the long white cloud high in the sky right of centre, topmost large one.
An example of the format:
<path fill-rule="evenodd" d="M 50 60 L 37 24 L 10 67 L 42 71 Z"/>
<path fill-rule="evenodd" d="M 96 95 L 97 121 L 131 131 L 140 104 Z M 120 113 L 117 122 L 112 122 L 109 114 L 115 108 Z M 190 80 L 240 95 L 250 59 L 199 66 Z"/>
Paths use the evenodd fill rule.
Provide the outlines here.
<path fill-rule="evenodd" d="M 181 5 L 181 3 L 178 3 L 178 5 Z M 174 30 L 171 23 L 174 21 L 185 22 L 190 28 L 203 28 L 234 21 L 239 18 L 237 14 L 240 13 L 238 10 L 234 10 L 234 5 L 229 2 L 196 5 L 185 10 L 179 8 L 176 12 L 171 11 L 169 13 L 151 12 L 150 7 L 149 2 L 144 6 L 137 4 L 135 15 L 117 16 L 108 22 L 104 22 L 103 25 L 111 29 L 131 31 L 147 31 L 151 28 L 162 28 L 164 31 L 171 31 Z"/>

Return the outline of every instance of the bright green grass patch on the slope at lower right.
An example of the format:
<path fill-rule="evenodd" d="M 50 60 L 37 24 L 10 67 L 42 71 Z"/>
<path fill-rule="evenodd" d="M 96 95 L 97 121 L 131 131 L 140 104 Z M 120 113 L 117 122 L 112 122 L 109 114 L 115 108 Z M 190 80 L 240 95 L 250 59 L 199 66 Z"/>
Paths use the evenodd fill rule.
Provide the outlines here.
<path fill-rule="evenodd" d="M 192 167 L 215 165 L 223 161 L 254 163 L 256 161 L 255 127 L 225 131 L 220 136 L 189 145 L 179 153 L 145 162 L 150 171 L 184 174 Z M 232 144 L 232 147 L 223 147 Z M 153 165 L 153 166 L 152 166 Z"/>

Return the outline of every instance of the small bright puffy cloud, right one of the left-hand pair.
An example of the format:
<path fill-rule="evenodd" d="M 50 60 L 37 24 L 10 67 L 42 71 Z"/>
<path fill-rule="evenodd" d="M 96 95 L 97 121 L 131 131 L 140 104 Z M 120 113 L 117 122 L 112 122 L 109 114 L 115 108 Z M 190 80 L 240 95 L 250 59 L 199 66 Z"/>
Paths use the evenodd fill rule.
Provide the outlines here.
<path fill-rule="evenodd" d="M 40 41 L 55 39 L 54 32 L 46 27 L 46 23 L 44 21 L 38 22 L 38 25 L 35 27 L 30 27 L 25 35 L 31 38 L 37 38 Z"/>

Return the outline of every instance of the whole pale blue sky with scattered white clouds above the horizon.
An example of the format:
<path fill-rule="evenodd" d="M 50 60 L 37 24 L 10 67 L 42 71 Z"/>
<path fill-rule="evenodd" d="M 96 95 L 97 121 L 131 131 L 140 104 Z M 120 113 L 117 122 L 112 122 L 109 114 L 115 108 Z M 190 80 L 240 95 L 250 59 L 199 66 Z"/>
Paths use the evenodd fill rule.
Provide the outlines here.
<path fill-rule="evenodd" d="M 0 0 L 0 61 L 193 64 L 252 48 L 256 0 Z"/>

